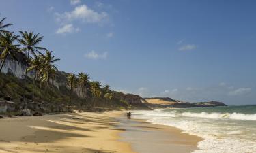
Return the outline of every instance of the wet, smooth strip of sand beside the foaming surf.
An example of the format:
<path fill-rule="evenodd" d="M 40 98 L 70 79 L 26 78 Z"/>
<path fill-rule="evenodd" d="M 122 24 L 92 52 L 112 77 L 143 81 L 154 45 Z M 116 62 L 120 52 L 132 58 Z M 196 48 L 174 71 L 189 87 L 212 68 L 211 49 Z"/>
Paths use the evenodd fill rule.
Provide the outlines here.
<path fill-rule="evenodd" d="M 121 141 L 129 142 L 137 153 L 188 153 L 198 150 L 197 143 L 203 138 L 183 133 L 174 126 L 146 122 L 143 119 L 119 117 Z"/>

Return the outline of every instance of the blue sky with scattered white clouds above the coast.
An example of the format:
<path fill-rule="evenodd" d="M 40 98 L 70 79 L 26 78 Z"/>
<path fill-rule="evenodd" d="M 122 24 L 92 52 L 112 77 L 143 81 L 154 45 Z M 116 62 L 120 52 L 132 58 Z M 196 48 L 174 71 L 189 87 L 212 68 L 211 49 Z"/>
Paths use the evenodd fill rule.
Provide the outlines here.
<path fill-rule="evenodd" d="M 0 0 L 59 70 L 142 97 L 256 104 L 256 1 Z"/>

